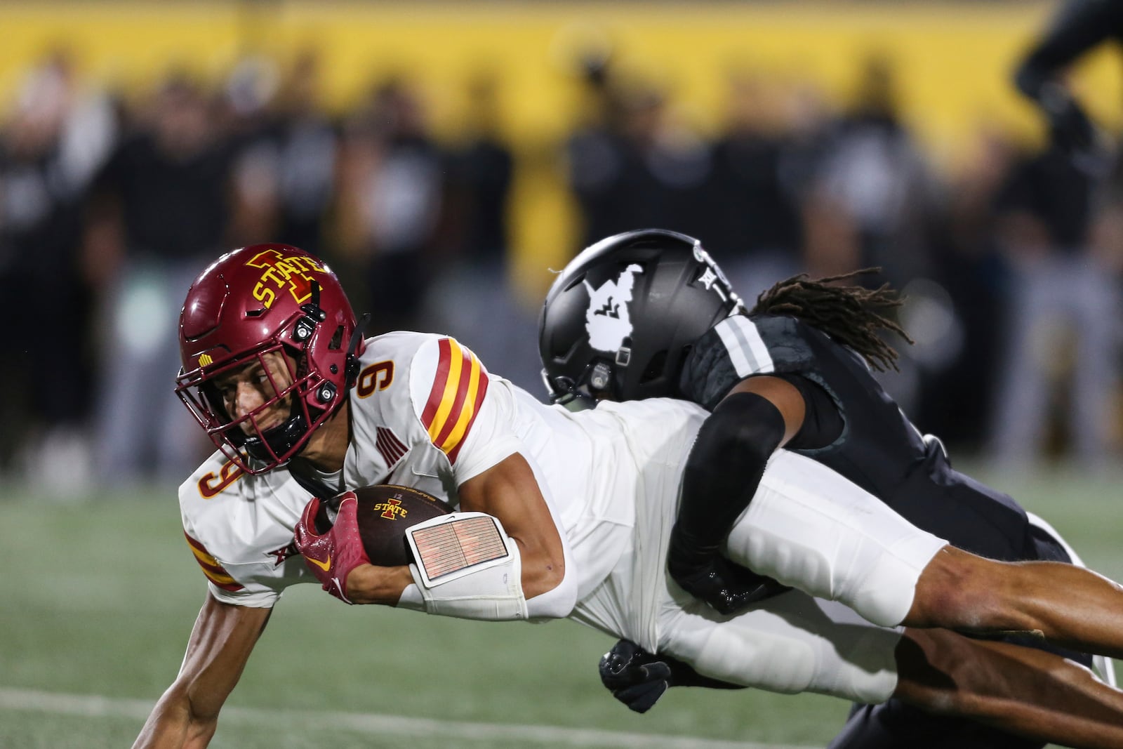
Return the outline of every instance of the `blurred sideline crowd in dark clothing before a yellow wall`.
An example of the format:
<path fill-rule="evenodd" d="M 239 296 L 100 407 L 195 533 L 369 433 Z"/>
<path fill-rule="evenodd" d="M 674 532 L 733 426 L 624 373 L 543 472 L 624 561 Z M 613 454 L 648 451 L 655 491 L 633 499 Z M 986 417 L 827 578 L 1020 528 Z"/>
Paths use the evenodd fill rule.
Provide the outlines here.
<path fill-rule="evenodd" d="M 220 252 L 318 253 L 368 332 L 449 332 L 544 398 L 550 268 L 645 227 L 701 238 L 750 304 L 880 266 L 915 340 L 886 387 L 922 430 L 1110 465 L 1123 201 L 1012 82 L 1053 8 L 4 3 L 0 485 L 188 475 L 210 444 L 175 321 Z M 1072 71 L 1105 133 L 1117 54 Z"/>

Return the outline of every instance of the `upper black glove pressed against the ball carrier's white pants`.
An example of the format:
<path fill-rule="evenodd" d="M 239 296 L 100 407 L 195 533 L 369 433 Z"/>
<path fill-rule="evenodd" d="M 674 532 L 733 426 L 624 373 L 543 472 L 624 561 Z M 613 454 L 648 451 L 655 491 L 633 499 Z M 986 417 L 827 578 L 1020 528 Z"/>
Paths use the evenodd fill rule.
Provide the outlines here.
<path fill-rule="evenodd" d="M 684 591 L 723 614 L 737 613 L 792 590 L 772 577 L 733 564 L 719 556 L 716 549 L 700 549 L 677 527 L 670 533 L 667 570 Z"/>

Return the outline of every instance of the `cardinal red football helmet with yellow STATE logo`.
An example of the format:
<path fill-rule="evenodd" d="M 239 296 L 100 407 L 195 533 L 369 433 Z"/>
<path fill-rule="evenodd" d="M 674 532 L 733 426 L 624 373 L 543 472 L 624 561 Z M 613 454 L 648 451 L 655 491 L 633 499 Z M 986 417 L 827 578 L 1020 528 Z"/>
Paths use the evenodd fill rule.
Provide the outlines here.
<path fill-rule="evenodd" d="M 220 257 L 188 291 L 180 313 L 183 368 L 175 393 L 214 445 L 238 467 L 263 473 L 292 458 L 339 409 L 354 382 L 362 340 L 335 273 L 290 245 L 252 245 Z M 238 419 L 227 413 L 217 377 L 285 354 L 291 384 L 268 376 L 265 402 Z M 284 422 L 262 415 L 291 400 Z M 250 429 L 245 431 L 243 424 Z"/>

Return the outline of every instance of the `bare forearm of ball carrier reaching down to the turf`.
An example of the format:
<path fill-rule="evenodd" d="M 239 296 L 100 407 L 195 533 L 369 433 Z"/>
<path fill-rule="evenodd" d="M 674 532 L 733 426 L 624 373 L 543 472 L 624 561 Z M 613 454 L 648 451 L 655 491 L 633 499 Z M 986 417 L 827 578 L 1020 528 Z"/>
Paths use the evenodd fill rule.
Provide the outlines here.
<path fill-rule="evenodd" d="M 180 674 L 148 715 L 134 748 L 206 747 L 271 612 L 220 603 L 208 595 Z"/>

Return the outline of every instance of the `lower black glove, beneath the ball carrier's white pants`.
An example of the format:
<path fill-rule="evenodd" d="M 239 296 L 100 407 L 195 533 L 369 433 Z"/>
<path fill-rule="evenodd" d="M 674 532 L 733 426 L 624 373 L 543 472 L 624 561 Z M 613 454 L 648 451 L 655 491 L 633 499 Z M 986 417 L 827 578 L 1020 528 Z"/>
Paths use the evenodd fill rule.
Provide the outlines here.
<path fill-rule="evenodd" d="M 637 713 L 646 713 L 673 686 L 742 688 L 702 676 L 682 660 L 650 654 L 629 640 L 620 640 L 601 656 L 600 672 L 612 696 Z"/>

